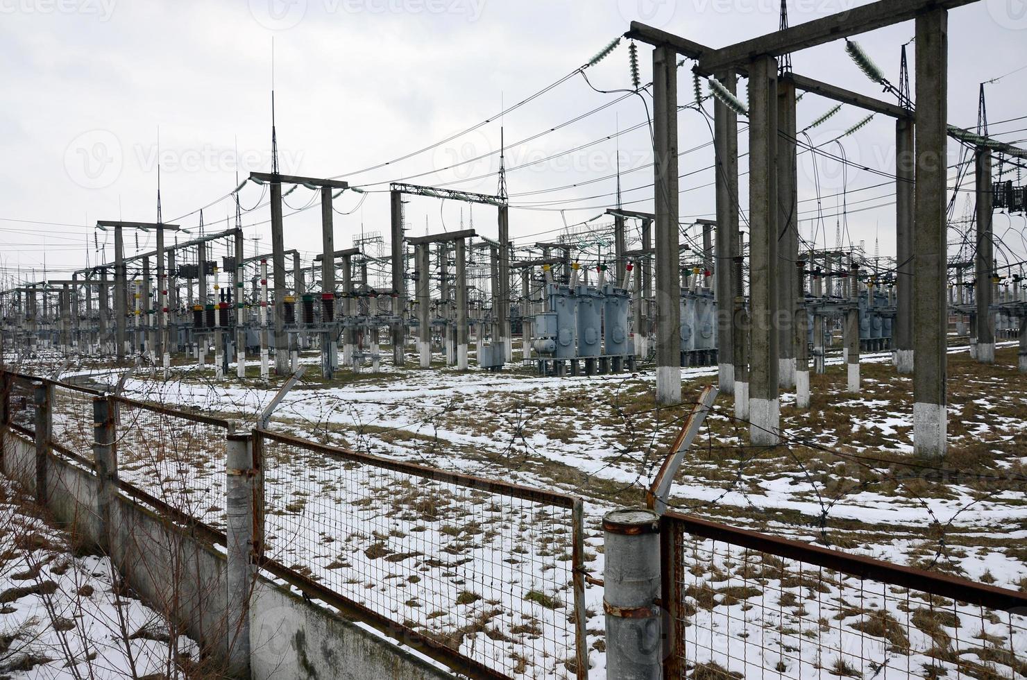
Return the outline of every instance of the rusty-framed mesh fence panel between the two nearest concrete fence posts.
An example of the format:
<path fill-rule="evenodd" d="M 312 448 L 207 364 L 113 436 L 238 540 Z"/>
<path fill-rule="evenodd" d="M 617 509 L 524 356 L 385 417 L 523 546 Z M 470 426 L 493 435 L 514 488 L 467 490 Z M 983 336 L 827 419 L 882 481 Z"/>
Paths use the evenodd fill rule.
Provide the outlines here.
<path fill-rule="evenodd" d="M 471 677 L 587 677 L 579 498 L 263 429 L 262 566 Z"/>

